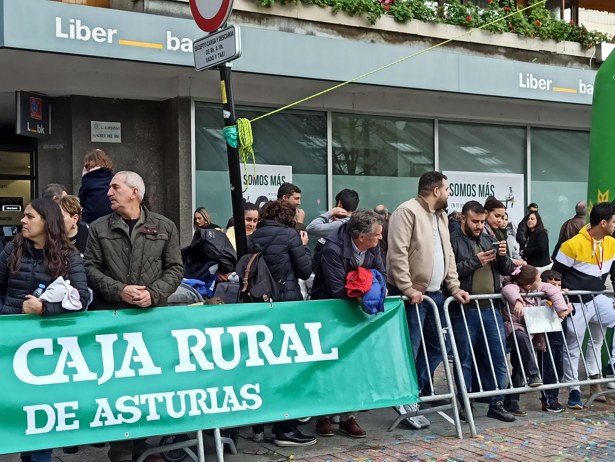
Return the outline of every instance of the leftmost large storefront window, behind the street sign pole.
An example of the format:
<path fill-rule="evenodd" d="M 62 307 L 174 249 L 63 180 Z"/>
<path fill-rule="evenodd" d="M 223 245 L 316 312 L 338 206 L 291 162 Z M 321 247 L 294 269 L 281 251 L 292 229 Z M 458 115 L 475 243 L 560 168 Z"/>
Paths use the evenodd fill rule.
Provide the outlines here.
<path fill-rule="evenodd" d="M 237 108 L 237 116 L 248 119 L 267 112 L 265 108 Z M 225 228 L 232 209 L 222 109 L 220 105 L 195 102 L 194 117 L 196 205 L 207 208 L 213 222 Z M 287 110 L 253 123 L 252 133 L 256 164 L 292 166 L 292 183 L 302 191 L 306 222 L 327 210 L 326 115 Z M 249 172 L 252 165 L 248 165 Z"/>

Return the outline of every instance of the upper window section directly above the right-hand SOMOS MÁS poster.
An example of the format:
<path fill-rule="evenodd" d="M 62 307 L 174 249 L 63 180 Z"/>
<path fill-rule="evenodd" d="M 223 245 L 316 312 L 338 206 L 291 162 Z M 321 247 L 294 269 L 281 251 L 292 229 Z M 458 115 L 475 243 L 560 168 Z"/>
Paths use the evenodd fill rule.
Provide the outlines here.
<path fill-rule="evenodd" d="M 525 173 L 525 127 L 440 121 L 440 170 Z"/>

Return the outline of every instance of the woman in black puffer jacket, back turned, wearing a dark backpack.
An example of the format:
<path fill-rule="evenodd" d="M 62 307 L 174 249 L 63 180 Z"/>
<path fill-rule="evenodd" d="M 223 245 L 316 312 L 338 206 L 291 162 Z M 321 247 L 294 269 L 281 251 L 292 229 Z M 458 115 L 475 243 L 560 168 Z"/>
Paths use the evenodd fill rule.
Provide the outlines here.
<path fill-rule="evenodd" d="M 299 279 L 304 281 L 312 274 L 312 257 L 308 249 L 308 234 L 294 229 L 296 209 L 288 202 L 268 202 L 261 209 L 261 221 L 250 235 L 250 244 L 264 249 L 263 257 L 278 282 L 279 301 L 303 300 Z"/>

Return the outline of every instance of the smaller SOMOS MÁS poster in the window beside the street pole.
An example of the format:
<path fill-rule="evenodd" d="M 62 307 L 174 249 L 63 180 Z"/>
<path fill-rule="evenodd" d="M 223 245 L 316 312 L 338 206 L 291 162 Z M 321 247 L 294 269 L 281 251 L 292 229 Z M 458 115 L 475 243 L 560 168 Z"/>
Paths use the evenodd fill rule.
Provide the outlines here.
<path fill-rule="evenodd" d="M 244 199 L 253 204 L 262 206 L 264 202 L 275 201 L 277 190 L 282 183 L 293 182 L 292 165 L 263 165 L 248 164 L 248 172 L 245 165 L 241 164 L 241 184 L 244 191 Z M 266 200 L 265 200 L 266 199 Z"/>

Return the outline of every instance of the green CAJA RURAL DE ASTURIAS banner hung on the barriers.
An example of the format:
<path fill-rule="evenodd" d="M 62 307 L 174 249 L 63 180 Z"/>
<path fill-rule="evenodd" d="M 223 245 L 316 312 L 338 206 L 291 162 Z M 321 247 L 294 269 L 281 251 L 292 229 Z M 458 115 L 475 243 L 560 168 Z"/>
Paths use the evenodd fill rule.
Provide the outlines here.
<path fill-rule="evenodd" d="M 416 402 L 403 302 L 2 316 L 0 453 Z"/>

